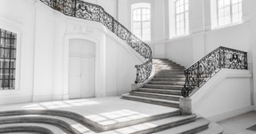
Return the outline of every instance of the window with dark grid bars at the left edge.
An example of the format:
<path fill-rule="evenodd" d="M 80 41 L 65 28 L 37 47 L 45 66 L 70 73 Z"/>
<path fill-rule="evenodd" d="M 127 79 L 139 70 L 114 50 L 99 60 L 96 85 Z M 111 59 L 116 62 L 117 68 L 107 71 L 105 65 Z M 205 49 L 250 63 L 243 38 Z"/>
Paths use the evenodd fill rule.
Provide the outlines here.
<path fill-rule="evenodd" d="M 0 90 L 15 89 L 16 37 L 0 28 Z"/>

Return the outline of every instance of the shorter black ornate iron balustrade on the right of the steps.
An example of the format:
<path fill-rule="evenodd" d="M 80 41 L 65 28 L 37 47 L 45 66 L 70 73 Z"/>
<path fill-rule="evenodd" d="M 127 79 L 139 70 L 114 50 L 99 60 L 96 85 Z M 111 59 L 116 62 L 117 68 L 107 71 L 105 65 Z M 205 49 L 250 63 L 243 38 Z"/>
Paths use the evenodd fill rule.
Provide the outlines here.
<path fill-rule="evenodd" d="M 221 68 L 248 69 L 247 52 L 220 46 L 187 67 L 184 71 L 186 83 L 181 92 L 182 96 L 185 98 L 191 96 Z"/>

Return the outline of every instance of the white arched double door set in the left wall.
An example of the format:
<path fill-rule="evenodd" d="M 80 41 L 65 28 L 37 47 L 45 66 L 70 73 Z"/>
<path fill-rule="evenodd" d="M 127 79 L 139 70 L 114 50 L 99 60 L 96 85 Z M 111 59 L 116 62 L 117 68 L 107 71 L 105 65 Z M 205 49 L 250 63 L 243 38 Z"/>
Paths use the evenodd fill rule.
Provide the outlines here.
<path fill-rule="evenodd" d="M 70 40 L 70 99 L 95 97 L 95 49 L 92 47 L 95 44 L 86 40 Z"/>

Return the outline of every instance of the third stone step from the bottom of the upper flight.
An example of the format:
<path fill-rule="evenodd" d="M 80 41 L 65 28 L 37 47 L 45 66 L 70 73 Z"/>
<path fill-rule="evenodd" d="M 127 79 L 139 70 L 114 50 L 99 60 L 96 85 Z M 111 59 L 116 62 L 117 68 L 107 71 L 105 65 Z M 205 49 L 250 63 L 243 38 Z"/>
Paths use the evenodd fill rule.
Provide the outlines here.
<path fill-rule="evenodd" d="M 169 94 L 169 95 L 179 95 L 179 96 L 181 96 L 181 91 L 177 91 L 177 90 L 138 88 L 138 91 L 150 92 L 150 93 L 160 93 L 160 94 Z"/>

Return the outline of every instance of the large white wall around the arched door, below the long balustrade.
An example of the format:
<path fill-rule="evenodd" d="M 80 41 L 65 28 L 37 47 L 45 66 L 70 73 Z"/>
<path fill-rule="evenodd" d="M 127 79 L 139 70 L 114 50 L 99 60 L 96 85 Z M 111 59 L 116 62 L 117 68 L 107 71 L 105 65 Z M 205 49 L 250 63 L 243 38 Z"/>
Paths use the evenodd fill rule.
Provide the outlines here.
<path fill-rule="evenodd" d="M 117 16 L 117 0 L 94 1 Z M 110 4 L 111 3 L 111 4 Z M 12 5 L 16 10 L 6 8 Z M 130 91 L 136 79 L 135 65 L 142 64 L 127 43 L 100 23 L 67 17 L 40 1 L 0 2 L 0 28 L 18 34 L 21 67 L 16 90 L 0 91 L 0 105 L 68 99 L 68 43 L 81 38 L 96 45 L 95 96 Z M 19 71 L 20 70 L 20 71 Z"/>

